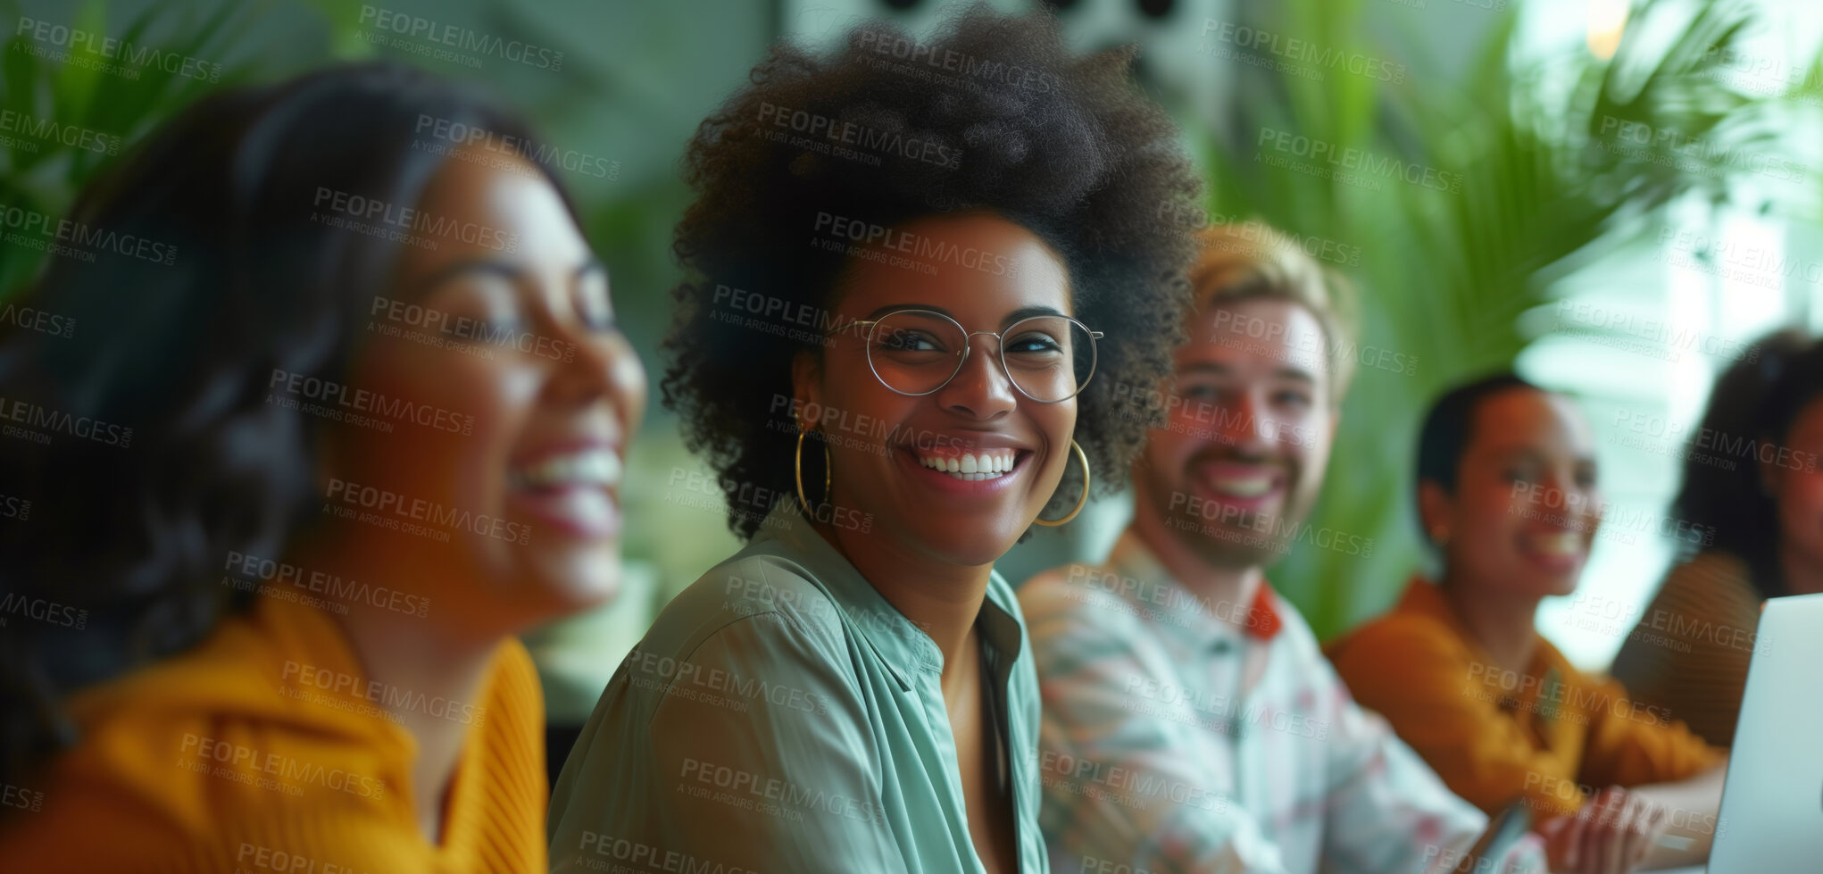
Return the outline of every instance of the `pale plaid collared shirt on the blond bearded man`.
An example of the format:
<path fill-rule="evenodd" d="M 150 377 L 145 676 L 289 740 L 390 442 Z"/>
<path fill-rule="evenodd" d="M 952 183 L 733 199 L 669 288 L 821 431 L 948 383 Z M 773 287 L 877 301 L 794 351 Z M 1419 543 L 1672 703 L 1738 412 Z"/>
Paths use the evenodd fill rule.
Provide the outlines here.
<path fill-rule="evenodd" d="M 1267 586 L 1209 602 L 1128 531 L 1107 567 L 1045 573 L 1019 600 L 1056 870 L 1444 872 L 1488 825 L 1354 704 Z M 1542 869 L 1526 836 L 1475 870 Z"/>

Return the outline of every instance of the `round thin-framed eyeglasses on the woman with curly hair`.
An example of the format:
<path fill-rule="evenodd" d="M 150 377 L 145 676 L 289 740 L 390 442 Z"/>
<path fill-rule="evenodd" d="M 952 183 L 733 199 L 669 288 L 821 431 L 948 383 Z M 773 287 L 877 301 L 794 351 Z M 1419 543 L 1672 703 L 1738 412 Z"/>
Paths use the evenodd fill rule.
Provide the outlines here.
<path fill-rule="evenodd" d="M 893 310 L 848 328 L 868 330 L 868 367 L 899 394 L 932 394 L 963 372 L 975 334 L 997 338 L 1001 370 L 1021 394 L 1043 403 L 1076 398 L 1096 374 L 1099 330 L 1068 316 L 1032 316 L 1006 330 L 970 332 L 935 310 Z"/>

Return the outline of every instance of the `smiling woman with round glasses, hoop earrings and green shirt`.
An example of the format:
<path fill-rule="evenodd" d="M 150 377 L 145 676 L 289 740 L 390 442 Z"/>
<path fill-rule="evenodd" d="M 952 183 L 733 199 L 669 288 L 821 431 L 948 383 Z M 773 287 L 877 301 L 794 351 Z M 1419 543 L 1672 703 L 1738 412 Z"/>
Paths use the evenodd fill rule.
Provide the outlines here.
<path fill-rule="evenodd" d="M 747 547 L 616 670 L 552 794 L 556 870 L 1046 870 L 994 562 L 1123 478 L 1119 387 L 1169 367 L 1194 254 L 1161 215 L 1200 184 L 1132 49 L 984 5 L 919 46 L 1017 75 L 930 82 L 893 44 L 777 46 L 689 148 L 664 389 Z"/>

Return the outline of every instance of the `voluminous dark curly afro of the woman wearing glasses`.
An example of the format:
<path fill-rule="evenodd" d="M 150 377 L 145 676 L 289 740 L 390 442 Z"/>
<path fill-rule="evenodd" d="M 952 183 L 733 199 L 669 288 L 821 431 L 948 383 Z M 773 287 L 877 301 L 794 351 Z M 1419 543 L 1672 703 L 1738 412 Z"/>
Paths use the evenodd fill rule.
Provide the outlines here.
<path fill-rule="evenodd" d="M 1076 317 L 1107 334 L 1076 440 L 1097 493 L 1125 480 L 1156 418 L 1132 389 L 1156 387 L 1183 338 L 1196 245 L 1179 217 L 1201 190 L 1176 126 L 1128 80 L 1132 57 L 1076 58 L 1050 15 L 973 5 L 924 42 L 870 24 L 829 57 L 780 44 L 702 122 L 685 155 L 698 197 L 673 243 L 685 279 L 671 292 L 662 390 L 685 445 L 720 474 L 736 535 L 753 536 L 773 504 L 764 496 L 795 491 L 784 462 L 797 434 L 775 427 L 775 398 L 791 396 L 795 354 L 822 347 L 813 332 L 722 319 L 715 296 L 740 288 L 829 312 L 850 259 L 806 245 L 819 213 L 891 228 L 983 210 L 1048 243 L 1068 266 Z M 778 113 L 802 130 L 773 124 Z M 819 131 L 859 131 L 853 153 L 824 151 Z M 808 478 L 820 465 L 806 453 Z M 1079 478 L 1076 465 L 1066 476 Z"/>

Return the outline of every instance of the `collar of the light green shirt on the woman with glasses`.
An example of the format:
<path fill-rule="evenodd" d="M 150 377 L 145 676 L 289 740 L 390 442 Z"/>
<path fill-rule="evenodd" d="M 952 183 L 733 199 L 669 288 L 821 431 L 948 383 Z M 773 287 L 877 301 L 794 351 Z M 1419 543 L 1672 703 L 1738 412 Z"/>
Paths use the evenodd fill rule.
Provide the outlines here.
<path fill-rule="evenodd" d="M 782 551 L 795 558 L 809 573 L 809 578 L 842 608 L 848 622 L 860 629 L 868 646 L 881 655 L 902 688 L 913 686 L 908 670 L 942 673 L 942 650 L 937 648 L 930 633 L 886 600 L 850 564 L 848 557 L 824 540 L 804 518 L 797 502 L 784 500 L 766 515 L 753 544 L 760 546 L 767 540 L 777 542 Z M 1025 626 L 1019 620 L 1014 589 L 999 571 L 988 575 L 988 593 L 975 624 L 983 646 L 994 651 L 1001 664 L 1010 666 L 1019 657 L 1019 650 L 1025 646 Z"/>

